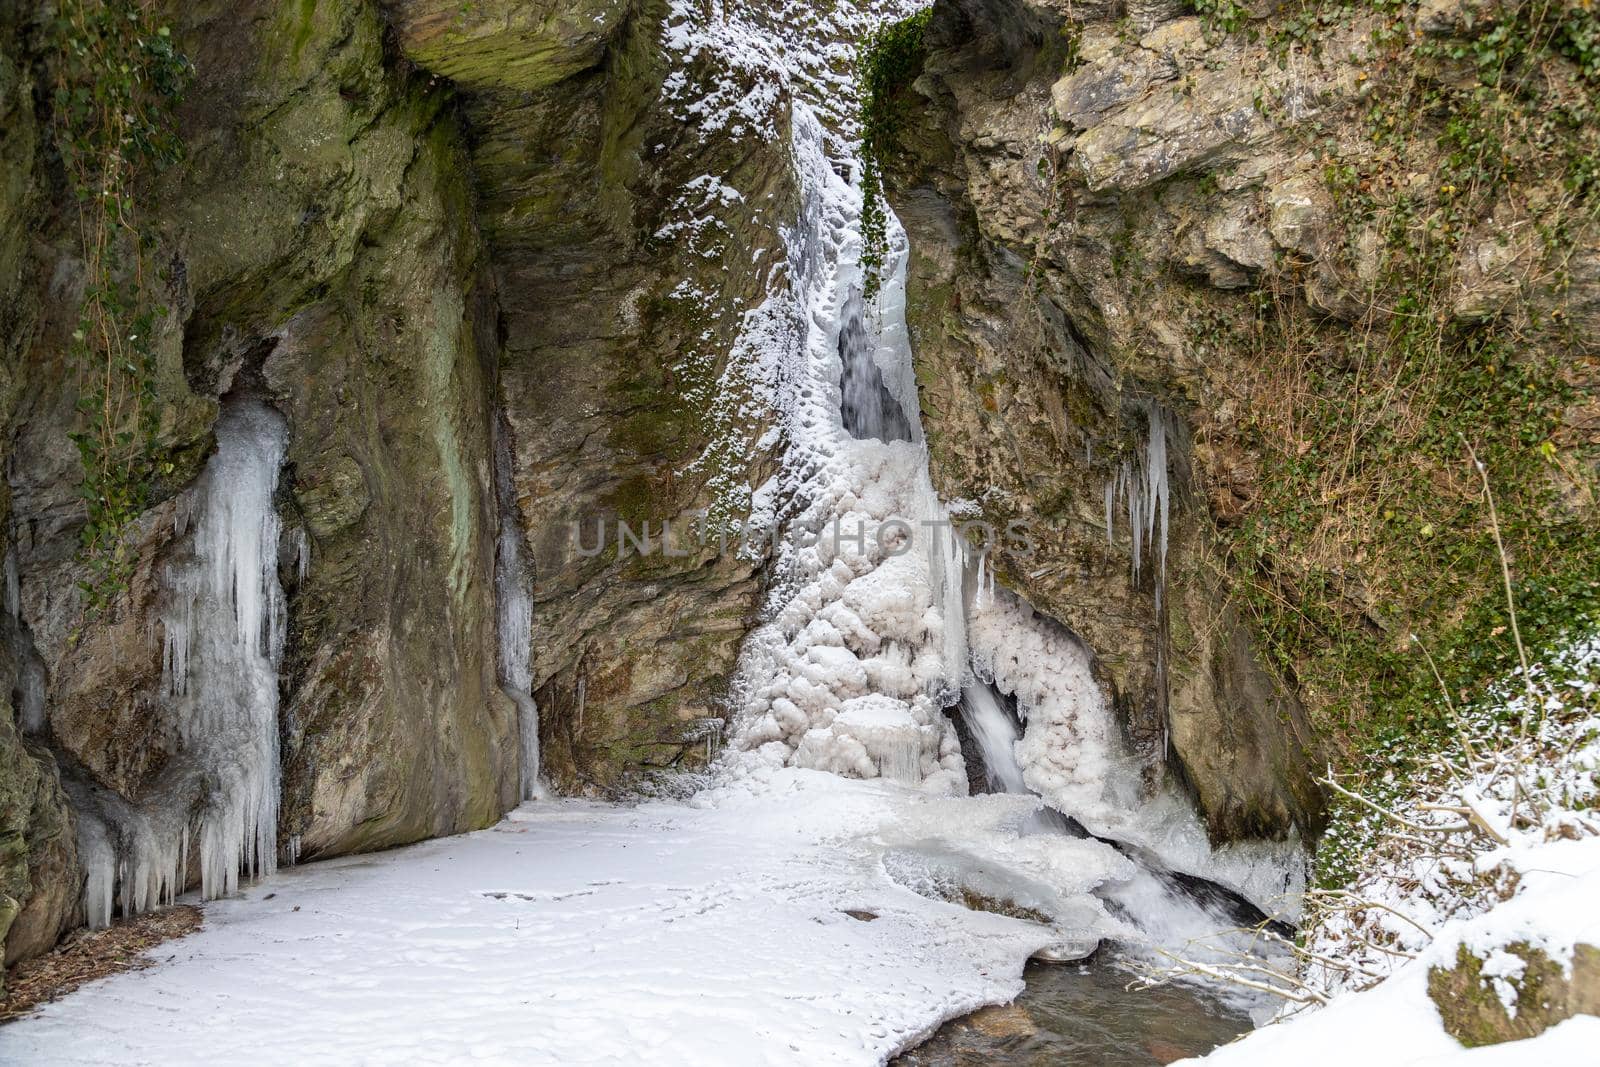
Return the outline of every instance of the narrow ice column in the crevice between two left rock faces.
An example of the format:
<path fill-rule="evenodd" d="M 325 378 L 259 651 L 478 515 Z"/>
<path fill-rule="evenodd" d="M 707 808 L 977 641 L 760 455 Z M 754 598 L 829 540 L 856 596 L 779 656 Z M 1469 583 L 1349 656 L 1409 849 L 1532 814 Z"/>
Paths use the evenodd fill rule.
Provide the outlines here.
<path fill-rule="evenodd" d="M 517 705 L 517 733 L 522 737 L 520 795 L 523 800 L 539 800 L 547 790 L 539 774 L 539 704 L 533 699 L 533 566 L 517 522 L 510 442 L 504 426 L 498 426 L 494 435 L 494 488 L 499 504 L 499 536 L 494 541 L 499 683 Z"/>

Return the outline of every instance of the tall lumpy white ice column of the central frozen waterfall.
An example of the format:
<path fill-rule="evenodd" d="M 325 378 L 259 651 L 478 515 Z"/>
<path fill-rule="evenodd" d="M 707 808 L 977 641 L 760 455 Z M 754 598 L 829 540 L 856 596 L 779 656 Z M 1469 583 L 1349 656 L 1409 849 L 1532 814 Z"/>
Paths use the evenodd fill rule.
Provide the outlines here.
<path fill-rule="evenodd" d="M 805 206 L 787 243 L 805 334 L 781 474 L 790 536 L 771 619 L 741 656 L 738 749 L 790 766 L 958 792 L 965 774 L 944 704 L 960 685 L 960 661 L 947 656 L 960 635 L 944 608 L 947 581 L 960 582 L 960 574 L 928 549 L 939 533 L 928 523 L 944 512 L 923 445 L 910 440 L 920 434 L 904 418 L 915 408 L 894 392 L 904 381 L 883 374 L 877 355 L 896 347 L 909 357 L 904 307 L 894 302 L 904 286 L 883 286 L 862 314 L 859 194 L 829 163 L 822 126 L 803 102 L 792 130 Z M 904 235 L 893 240 L 893 270 L 902 278 Z M 877 374 L 866 373 L 869 352 Z M 856 438 L 846 429 L 842 357 L 872 389 L 877 414 L 862 416 L 858 430 L 883 437 Z"/>

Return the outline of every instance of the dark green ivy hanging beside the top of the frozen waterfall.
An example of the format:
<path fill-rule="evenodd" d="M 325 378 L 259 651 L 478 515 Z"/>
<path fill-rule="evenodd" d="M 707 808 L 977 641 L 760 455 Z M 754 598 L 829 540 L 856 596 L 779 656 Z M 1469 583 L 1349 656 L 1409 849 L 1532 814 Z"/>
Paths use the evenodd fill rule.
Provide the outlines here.
<path fill-rule="evenodd" d="M 904 99 L 926 56 L 923 35 L 933 8 L 874 30 L 861 45 L 861 270 L 864 296 L 877 296 L 888 254 L 883 162 L 899 136 Z"/>

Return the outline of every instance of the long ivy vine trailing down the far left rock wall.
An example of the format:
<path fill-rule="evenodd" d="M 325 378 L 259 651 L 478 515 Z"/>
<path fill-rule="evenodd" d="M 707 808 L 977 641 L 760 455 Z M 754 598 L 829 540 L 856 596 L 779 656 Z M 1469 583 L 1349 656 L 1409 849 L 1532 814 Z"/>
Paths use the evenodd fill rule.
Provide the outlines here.
<path fill-rule="evenodd" d="M 125 534 L 171 464 L 157 450 L 152 333 L 166 309 L 150 291 L 149 238 L 136 179 L 181 155 L 173 104 L 192 66 L 141 0 L 61 0 L 48 26 L 54 56 L 51 120 L 77 214 L 83 299 L 69 360 L 88 522 L 80 555 L 90 613 L 104 609 L 133 571 Z"/>

